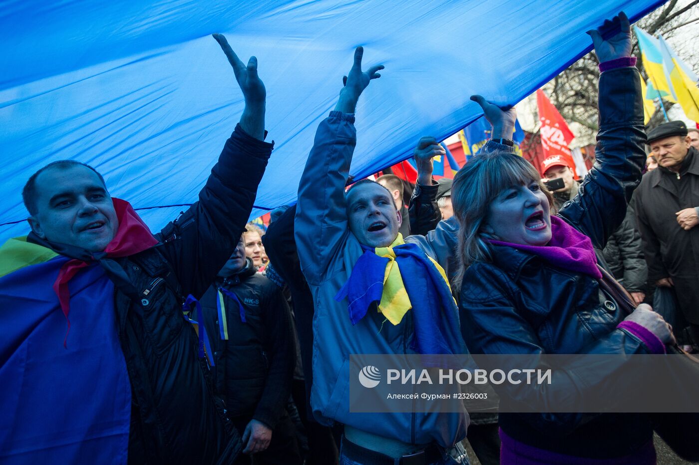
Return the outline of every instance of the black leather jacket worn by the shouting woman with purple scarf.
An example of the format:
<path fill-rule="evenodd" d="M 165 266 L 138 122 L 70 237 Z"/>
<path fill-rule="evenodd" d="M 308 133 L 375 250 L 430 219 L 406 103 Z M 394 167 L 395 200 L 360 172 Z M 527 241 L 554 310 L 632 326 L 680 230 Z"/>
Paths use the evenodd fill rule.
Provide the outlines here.
<path fill-rule="evenodd" d="M 640 76 L 635 68 L 600 76 L 597 160 L 565 203 L 559 217 L 603 248 L 626 214 L 645 159 Z M 471 265 L 461 287 L 461 329 L 468 348 L 485 354 L 634 354 L 643 343 L 617 329 L 626 315 L 590 276 L 550 266 L 528 252 L 493 246 L 493 262 Z M 601 299 L 600 299 L 601 298 Z M 607 373 L 611 374 L 611 373 Z M 554 382 L 560 382 L 554 370 Z M 582 379 L 606 379 L 590 373 L 568 377 L 570 390 L 586 389 Z M 557 380 L 559 379 L 559 380 Z M 505 388 L 506 389 L 506 388 Z M 545 388 L 540 387 L 542 396 Z M 609 389 L 614 389 L 609 386 Z M 507 390 L 500 395 L 508 396 Z M 500 414 L 505 433 L 528 445 L 577 457 L 619 457 L 652 437 L 641 415 Z"/>

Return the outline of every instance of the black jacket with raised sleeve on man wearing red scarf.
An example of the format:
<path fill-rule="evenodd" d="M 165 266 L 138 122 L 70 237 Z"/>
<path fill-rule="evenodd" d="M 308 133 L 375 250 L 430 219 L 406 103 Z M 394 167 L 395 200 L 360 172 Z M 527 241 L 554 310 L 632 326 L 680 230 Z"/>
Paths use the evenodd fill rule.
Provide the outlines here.
<path fill-rule="evenodd" d="M 161 231 L 161 243 L 115 259 L 122 272 L 109 275 L 133 399 L 129 464 L 229 464 L 240 450 L 180 296 L 201 296 L 230 257 L 271 150 L 236 127 L 199 201 Z"/>

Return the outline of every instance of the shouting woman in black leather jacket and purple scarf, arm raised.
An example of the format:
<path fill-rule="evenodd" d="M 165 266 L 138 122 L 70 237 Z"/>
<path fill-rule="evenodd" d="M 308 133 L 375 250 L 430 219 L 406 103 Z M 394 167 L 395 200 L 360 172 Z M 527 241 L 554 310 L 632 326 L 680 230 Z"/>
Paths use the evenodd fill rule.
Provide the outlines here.
<path fill-rule="evenodd" d="M 672 342 L 668 325 L 649 306 L 625 319 L 599 285 L 593 247 L 603 248 L 624 220 L 646 141 L 626 15 L 605 22 L 604 29 L 610 27 L 617 33 L 607 40 L 601 27 L 589 32 L 603 71 L 597 161 L 572 201 L 552 216 L 551 194 L 533 166 L 506 152 L 475 157 L 454 178 L 461 331 L 474 354 L 629 355 L 662 353 Z M 512 134 L 514 110 L 474 99 L 493 122 L 493 138 Z M 585 389 L 575 378 L 568 382 L 570 392 Z M 637 414 L 501 413 L 501 459 L 654 464 L 652 433 Z"/>

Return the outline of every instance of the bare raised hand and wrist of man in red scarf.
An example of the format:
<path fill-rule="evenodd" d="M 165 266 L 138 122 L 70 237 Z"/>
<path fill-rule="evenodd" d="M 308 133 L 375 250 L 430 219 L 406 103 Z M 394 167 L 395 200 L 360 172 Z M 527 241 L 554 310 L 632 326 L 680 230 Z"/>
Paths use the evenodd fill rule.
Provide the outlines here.
<path fill-rule="evenodd" d="M 222 34 L 212 34 L 212 36 L 226 54 L 228 62 L 233 67 L 233 73 L 236 75 L 240 90 L 243 91 L 245 108 L 243 115 L 240 115 L 240 127 L 250 136 L 264 141 L 264 113 L 267 92 L 262 80 L 257 76 L 257 58 L 250 57 L 247 66 L 245 66 Z"/>

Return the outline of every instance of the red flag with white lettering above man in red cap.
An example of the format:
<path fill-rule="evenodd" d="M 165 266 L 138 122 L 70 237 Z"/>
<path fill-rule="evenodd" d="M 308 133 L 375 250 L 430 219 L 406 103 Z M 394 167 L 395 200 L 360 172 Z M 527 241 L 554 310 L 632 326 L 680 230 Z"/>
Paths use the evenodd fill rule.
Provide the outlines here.
<path fill-rule="evenodd" d="M 542 90 L 536 91 L 536 103 L 539 107 L 541 145 L 544 149 L 544 158 L 546 159 L 552 155 L 561 155 L 568 161 L 568 165 L 572 166 L 573 176 L 577 178 L 575 160 L 573 160 L 570 148 L 568 148 L 575 136 L 568 128 L 568 124 L 565 124 L 565 120 L 563 120 L 559 110 L 553 106 Z"/>

